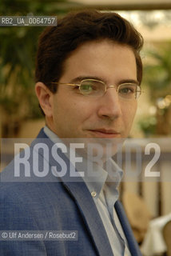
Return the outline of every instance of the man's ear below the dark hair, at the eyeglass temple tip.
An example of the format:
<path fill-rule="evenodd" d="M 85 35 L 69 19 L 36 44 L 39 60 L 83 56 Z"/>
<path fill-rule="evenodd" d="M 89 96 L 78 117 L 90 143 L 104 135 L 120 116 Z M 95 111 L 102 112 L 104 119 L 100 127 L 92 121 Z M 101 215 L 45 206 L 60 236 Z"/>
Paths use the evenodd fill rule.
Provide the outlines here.
<path fill-rule="evenodd" d="M 51 99 L 52 99 L 53 93 L 42 82 L 36 83 L 35 92 L 44 114 L 46 115 L 46 117 L 50 118 L 52 116 Z"/>

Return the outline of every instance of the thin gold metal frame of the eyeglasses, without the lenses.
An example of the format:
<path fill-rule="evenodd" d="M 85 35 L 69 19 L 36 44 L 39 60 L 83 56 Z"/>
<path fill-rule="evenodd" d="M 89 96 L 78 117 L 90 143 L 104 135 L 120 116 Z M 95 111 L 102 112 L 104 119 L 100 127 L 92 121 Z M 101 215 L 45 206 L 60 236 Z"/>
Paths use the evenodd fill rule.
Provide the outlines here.
<path fill-rule="evenodd" d="M 98 95 L 91 95 L 91 94 L 83 94 L 82 91 L 80 90 L 80 87 L 82 86 L 82 82 L 85 82 L 85 81 L 95 81 L 95 82 L 101 82 L 104 86 L 105 86 L 105 90 L 104 90 L 104 94 L 101 94 L 100 96 Z M 119 87 L 120 86 L 123 86 L 123 85 L 135 85 L 137 86 L 137 88 L 139 90 L 135 90 L 135 93 L 134 93 L 134 99 L 137 100 L 137 98 L 140 97 L 141 93 L 143 92 L 141 90 L 141 86 L 138 84 L 138 82 L 123 82 L 121 83 L 120 85 L 108 85 L 101 81 L 101 80 L 97 80 L 97 79 L 93 79 L 93 78 L 86 78 L 86 79 L 82 79 L 82 81 L 80 83 L 70 83 L 70 82 L 51 82 L 51 84 L 57 84 L 57 85 L 64 85 L 64 86 L 78 86 L 79 87 L 79 91 L 80 91 L 80 94 L 84 95 L 84 96 L 92 96 L 92 97 L 101 97 L 101 96 L 104 96 L 105 95 L 105 92 L 106 90 L 108 90 L 109 88 L 115 88 L 115 90 L 117 91 L 117 94 L 118 94 L 118 90 L 119 90 Z M 137 96 L 136 98 L 136 93 L 139 92 L 139 95 Z M 118 94 L 119 95 L 119 94 Z M 126 98 L 125 98 L 126 99 Z M 126 100 L 133 100 L 132 98 L 129 99 L 127 98 Z"/>

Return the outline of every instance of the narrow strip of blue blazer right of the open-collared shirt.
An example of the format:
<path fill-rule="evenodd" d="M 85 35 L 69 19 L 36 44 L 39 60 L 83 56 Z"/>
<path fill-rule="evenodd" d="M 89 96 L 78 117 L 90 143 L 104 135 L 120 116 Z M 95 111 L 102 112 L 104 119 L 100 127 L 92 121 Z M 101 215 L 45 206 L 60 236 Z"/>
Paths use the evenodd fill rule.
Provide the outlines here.
<path fill-rule="evenodd" d="M 137 241 L 135 240 L 135 238 L 133 236 L 133 231 L 131 230 L 131 227 L 129 225 L 128 219 L 125 214 L 125 210 L 124 210 L 123 206 L 121 205 L 121 202 L 117 201 L 115 203 L 114 207 L 117 212 L 117 216 L 121 222 L 121 226 L 124 230 L 125 237 L 127 239 L 131 255 L 141 256 L 141 251 L 137 245 Z"/>

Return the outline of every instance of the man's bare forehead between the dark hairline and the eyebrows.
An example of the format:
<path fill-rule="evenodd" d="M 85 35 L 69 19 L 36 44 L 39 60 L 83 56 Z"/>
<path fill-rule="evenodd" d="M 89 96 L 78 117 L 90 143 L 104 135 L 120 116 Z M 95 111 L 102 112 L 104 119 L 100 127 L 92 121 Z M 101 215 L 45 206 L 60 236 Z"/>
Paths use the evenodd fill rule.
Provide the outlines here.
<path fill-rule="evenodd" d="M 113 79 L 121 74 L 137 78 L 133 50 L 117 42 L 101 40 L 85 42 L 70 54 L 64 62 L 62 81 L 78 76 L 96 76 L 106 80 L 107 77 Z"/>

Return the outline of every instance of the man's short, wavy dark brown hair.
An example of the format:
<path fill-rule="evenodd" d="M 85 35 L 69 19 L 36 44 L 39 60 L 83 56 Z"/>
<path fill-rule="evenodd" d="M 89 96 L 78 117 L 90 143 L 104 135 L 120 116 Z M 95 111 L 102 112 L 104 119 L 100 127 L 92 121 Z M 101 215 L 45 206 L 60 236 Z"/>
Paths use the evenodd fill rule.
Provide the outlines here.
<path fill-rule="evenodd" d="M 36 82 L 43 82 L 55 93 L 56 89 L 53 88 L 56 86 L 51 87 L 51 82 L 58 82 L 61 78 L 63 64 L 70 53 L 85 42 L 106 38 L 133 49 L 137 80 L 141 83 L 141 34 L 119 14 L 97 10 L 71 12 L 58 20 L 58 26 L 48 27 L 42 32 L 38 42 Z"/>

